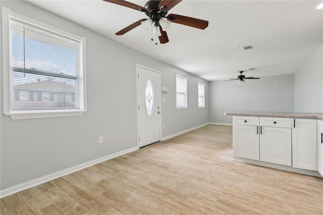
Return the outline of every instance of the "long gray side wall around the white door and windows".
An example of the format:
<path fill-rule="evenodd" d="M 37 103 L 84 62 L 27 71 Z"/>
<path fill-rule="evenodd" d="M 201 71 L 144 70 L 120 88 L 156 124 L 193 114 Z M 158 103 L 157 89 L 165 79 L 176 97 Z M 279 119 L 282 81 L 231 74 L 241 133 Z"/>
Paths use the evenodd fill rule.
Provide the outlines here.
<path fill-rule="evenodd" d="M 136 64 L 160 71 L 161 85 L 170 90 L 161 95 L 166 97 L 166 102 L 161 103 L 163 137 L 208 122 L 208 100 L 205 109 L 197 109 L 197 81 L 205 83 L 208 97 L 207 81 L 26 2 L 0 3 L 14 12 L 87 38 L 88 110 L 81 117 L 31 120 L 12 120 L 1 114 L 0 190 L 136 147 Z M 175 73 L 188 77 L 185 111 L 175 108 Z M 104 137 L 103 144 L 98 144 L 99 136 Z"/>

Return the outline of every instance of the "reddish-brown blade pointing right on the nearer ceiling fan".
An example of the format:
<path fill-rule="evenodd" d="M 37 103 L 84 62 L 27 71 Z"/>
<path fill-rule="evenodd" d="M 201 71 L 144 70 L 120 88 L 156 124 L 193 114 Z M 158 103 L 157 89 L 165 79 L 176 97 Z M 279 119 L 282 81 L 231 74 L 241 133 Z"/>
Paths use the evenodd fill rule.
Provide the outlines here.
<path fill-rule="evenodd" d="M 170 14 L 167 16 L 167 19 L 171 22 L 191 26 L 194 28 L 205 29 L 208 26 L 208 21 L 196 19 L 192 17 L 186 17 L 177 14 Z"/>

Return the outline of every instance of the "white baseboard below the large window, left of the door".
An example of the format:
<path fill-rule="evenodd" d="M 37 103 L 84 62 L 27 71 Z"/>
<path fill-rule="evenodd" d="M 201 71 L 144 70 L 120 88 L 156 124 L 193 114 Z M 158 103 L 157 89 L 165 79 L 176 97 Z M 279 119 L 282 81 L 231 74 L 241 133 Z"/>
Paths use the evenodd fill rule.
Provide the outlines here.
<path fill-rule="evenodd" d="M 109 160 L 109 159 L 121 156 L 123 154 L 130 153 L 130 152 L 138 150 L 138 149 L 139 149 L 138 146 L 128 148 L 126 150 L 119 151 L 119 152 L 116 152 L 116 153 L 113 153 L 113 154 L 110 154 L 110 155 L 106 155 L 106 156 L 103 156 L 103 157 L 100 157 L 100 158 L 97 158 L 97 159 L 94 159 L 94 160 L 90 160 L 89 162 L 86 162 L 86 163 L 83 163 L 83 164 L 80 164 L 80 165 L 77 165 L 77 166 L 74 166 L 74 167 L 71 167 L 71 168 L 56 172 L 56 173 L 52 173 L 52 174 L 49 174 L 47 176 L 43 176 L 43 177 L 38 178 L 38 179 L 34 179 L 34 180 L 31 180 L 31 181 L 28 181 L 28 182 L 25 182 L 25 183 L 22 183 L 22 184 L 19 184 L 19 185 L 16 185 L 16 186 L 4 189 L 4 190 L 0 190 L 0 198 L 9 196 L 11 194 L 20 192 L 22 190 L 26 190 L 28 188 L 37 186 L 39 184 L 42 184 L 42 183 L 45 183 L 45 182 L 60 178 L 62 176 L 66 176 L 66 175 L 74 173 L 76 171 L 83 170 L 83 169 L 91 167 L 93 165 L 102 163 L 105 160 Z"/>

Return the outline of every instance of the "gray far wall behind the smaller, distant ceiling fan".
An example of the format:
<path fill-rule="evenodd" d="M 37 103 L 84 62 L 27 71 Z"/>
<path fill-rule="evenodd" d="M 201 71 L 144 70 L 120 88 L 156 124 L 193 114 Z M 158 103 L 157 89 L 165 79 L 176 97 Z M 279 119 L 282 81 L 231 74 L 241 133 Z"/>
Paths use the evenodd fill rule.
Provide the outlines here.
<path fill-rule="evenodd" d="M 210 122 L 232 123 L 225 112 L 294 112 L 294 75 L 261 77 L 237 81 L 213 81 L 209 84 Z"/>

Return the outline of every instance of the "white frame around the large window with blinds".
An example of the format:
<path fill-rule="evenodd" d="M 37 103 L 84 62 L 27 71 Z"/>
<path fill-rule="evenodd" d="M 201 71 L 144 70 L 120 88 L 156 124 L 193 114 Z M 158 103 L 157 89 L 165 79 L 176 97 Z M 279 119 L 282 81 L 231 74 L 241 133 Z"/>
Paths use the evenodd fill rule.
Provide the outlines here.
<path fill-rule="evenodd" d="M 18 119 L 37 119 L 37 118 L 51 118 L 51 117 L 70 117 L 70 116 L 82 116 L 87 111 L 87 94 L 86 94 L 86 38 L 76 36 L 72 33 L 63 31 L 61 29 L 49 26 L 42 22 L 36 21 L 34 19 L 25 17 L 18 13 L 11 11 L 8 8 L 1 7 L 1 16 L 2 16 L 2 31 L 3 31 L 3 52 L 2 52 L 2 60 L 3 60 L 3 108 L 4 114 L 6 116 L 10 116 L 13 120 Z M 23 23 L 38 27 L 40 29 L 53 32 L 55 34 L 77 40 L 80 42 L 80 48 L 82 52 L 82 63 L 80 64 L 80 108 L 79 109 L 50 109 L 50 110 L 21 110 L 21 111 L 11 111 L 10 108 L 10 95 L 13 92 L 12 87 L 12 71 L 11 71 L 11 29 L 9 25 L 10 19 L 13 18 L 15 20 L 21 21 Z M 37 99 L 37 95 L 34 94 L 34 99 Z M 50 98 L 49 98 L 50 99 Z"/>

